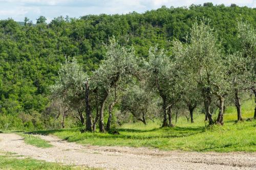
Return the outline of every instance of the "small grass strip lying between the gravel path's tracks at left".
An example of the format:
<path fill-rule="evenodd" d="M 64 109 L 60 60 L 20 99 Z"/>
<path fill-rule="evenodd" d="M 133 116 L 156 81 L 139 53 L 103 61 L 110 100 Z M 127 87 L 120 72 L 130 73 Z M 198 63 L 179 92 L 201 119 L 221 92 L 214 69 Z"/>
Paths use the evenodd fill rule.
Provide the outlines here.
<path fill-rule="evenodd" d="M 48 141 L 41 139 L 40 137 L 24 134 L 24 133 L 17 133 L 17 134 L 24 137 L 25 143 L 34 145 L 35 147 L 50 148 L 53 146 Z"/>

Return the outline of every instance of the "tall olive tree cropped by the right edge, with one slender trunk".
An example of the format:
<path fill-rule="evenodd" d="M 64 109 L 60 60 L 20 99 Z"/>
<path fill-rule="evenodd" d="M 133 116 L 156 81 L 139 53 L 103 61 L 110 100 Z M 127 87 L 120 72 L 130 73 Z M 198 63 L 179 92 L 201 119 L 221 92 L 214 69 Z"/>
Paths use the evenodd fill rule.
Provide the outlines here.
<path fill-rule="evenodd" d="M 241 95 L 245 90 L 255 89 L 255 29 L 247 22 L 238 21 L 238 51 L 229 55 L 229 76 L 232 82 L 234 104 L 238 120 L 242 120 Z M 254 92 L 255 93 L 255 92 Z"/>

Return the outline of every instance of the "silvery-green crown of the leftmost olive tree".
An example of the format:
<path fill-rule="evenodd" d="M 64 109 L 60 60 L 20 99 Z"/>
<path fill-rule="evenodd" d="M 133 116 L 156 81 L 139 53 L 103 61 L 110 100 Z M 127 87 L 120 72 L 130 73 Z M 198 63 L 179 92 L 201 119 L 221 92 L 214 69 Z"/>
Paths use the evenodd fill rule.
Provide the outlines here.
<path fill-rule="evenodd" d="M 84 100 L 84 82 L 87 80 L 87 74 L 76 59 L 67 59 L 59 69 L 56 84 L 50 86 L 52 96 L 61 99 L 72 108 L 76 107 Z"/>

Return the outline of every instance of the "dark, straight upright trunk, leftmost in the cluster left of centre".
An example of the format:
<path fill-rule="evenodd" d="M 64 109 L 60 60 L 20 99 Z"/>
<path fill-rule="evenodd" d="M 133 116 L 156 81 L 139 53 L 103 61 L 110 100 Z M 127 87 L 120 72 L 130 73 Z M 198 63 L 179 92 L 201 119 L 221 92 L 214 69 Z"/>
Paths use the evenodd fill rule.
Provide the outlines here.
<path fill-rule="evenodd" d="M 89 100 L 89 84 L 88 81 L 85 83 L 86 85 L 86 131 L 92 132 L 92 112 Z"/>

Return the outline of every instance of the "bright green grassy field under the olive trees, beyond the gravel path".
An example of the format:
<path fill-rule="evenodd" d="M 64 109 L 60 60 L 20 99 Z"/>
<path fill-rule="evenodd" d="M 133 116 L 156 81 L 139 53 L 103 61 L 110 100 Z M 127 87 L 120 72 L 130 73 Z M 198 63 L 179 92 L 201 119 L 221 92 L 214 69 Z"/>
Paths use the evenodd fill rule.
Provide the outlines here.
<path fill-rule="evenodd" d="M 254 101 L 246 101 L 242 107 L 243 118 L 253 117 Z M 217 115 L 214 115 L 217 116 Z M 149 147 L 161 150 L 183 151 L 256 151 L 256 121 L 235 123 L 236 109 L 228 107 L 224 115 L 224 126 L 206 127 L 204 114 L 196 114 L 195 123 L 179 118 L 174 128 L 159 128 L 160 121 L 125 124 L 117 129 L 119 135 L 109 133 L 80 133 L 77 129 L 37 131 L 53 134 L 70 142 L 93 145 L 120 145 Z"/>

